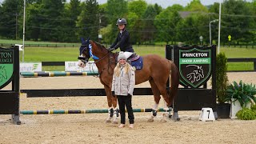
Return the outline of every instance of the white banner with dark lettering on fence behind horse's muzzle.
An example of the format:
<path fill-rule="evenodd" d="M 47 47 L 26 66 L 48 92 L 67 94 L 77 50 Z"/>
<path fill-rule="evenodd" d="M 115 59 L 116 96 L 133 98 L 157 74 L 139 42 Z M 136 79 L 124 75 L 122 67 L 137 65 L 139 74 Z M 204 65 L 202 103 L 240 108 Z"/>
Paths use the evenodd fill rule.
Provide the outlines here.
<path fill-rule="evenodd" d="M 84 68 L 78 66 L 78 62 L 65 62 L 65 71 L 98 71 L 97 66 L 94 61 L 89 61 L 86 63 Z"/>

